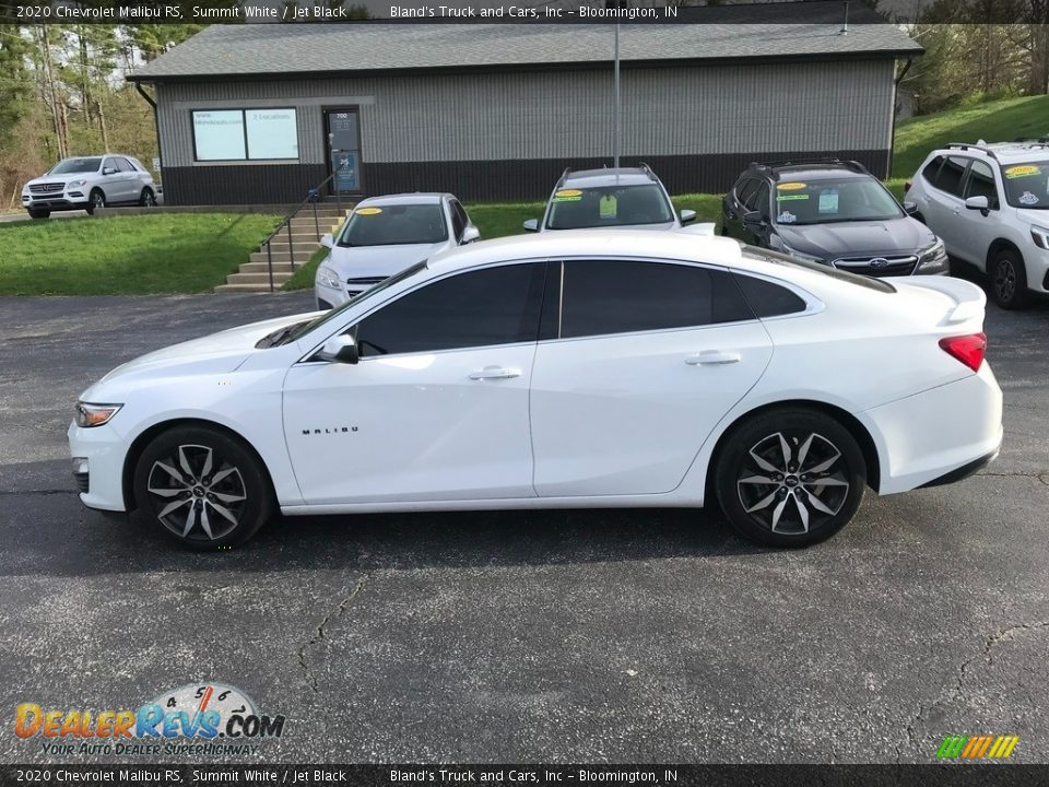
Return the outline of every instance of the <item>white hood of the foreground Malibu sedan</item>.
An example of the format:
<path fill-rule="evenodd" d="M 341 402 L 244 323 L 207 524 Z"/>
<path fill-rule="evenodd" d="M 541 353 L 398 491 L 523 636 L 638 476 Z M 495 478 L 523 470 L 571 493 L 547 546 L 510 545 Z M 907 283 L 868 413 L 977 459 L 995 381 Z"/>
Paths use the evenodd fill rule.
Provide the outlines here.
<path fill-rule="evenodd" d="M 252 352 L 264 352 L 264 350 L 256 350 L 255 346 L 262 337 L 280 328 L 313 319 L 320 314 L 323 313 L 311 312 L 278 317 L 240 326 L 239 328 L 231 328 L 179 344 L 172 344 L 117 366 L 96 385 L 109 386 L 114 383 L 126 381 L 129 378 L 154 377 L 158 373 L 163 373 L 165 376 L 180 376 L 233 372 Z M 85 398 L 91 390 L 92 388 L 89 388 L 85 391 Z"/>

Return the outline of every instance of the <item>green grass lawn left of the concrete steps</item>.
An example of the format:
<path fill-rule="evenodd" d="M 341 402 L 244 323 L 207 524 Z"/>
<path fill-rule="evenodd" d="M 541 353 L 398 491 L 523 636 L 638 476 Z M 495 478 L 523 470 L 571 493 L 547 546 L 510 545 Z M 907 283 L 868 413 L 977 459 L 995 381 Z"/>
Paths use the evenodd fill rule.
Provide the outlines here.
<path fill-rule="evenodd" d="M 0 295 L 212 290 L 280 216 L 154 213 L 0 224 Z"/>

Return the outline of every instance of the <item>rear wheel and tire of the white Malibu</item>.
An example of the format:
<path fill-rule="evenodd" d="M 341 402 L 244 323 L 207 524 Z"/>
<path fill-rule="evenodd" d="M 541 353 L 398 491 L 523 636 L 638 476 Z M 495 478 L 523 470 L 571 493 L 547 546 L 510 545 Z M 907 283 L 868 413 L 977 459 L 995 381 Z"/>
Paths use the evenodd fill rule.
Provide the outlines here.
<path fill-rule="evenodd" d="M 769 547 L 830 538 L 852 519 L 865 484 L 856 438 L 832 416 L 803 408 L 764 412 L 733 427 L 715 467 L 732 527 Z"/>

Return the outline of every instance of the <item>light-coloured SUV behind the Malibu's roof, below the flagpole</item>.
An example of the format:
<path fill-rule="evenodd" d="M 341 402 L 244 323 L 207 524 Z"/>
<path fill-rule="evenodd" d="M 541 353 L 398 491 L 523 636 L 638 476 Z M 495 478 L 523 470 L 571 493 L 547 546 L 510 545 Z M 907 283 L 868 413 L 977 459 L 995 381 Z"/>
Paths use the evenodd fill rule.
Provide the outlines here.
<path fill-rule="evenodd" d="M 680 230 L 696 212 L 674 210 L 663 184 L 648 168 L 565 169 L 546 203 L 542 223 L 524 222 L 527 232 L 632 227 Z"/>

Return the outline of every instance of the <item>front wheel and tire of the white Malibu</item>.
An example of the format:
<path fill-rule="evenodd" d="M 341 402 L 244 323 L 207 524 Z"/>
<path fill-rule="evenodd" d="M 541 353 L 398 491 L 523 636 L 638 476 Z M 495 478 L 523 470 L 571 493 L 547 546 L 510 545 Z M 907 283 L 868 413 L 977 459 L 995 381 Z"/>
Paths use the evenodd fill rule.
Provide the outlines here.
<path fill-rule="evenodd" d="M 244 543 L 274 509 L 270 478 L 255 453 L 203 426 L 154 437 L 135 463 L 133 483 L 140 517 L 197 551 Z"/>

